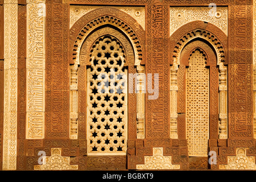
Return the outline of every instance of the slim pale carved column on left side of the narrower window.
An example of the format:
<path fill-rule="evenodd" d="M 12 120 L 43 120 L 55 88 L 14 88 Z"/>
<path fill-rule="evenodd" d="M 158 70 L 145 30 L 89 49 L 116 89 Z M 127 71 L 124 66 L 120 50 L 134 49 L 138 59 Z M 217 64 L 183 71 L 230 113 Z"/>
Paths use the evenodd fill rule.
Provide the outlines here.
<path fill-rule="evenodd" d="M 171 67 L 170 83 L 170 137 L 177 139 L 177 65 Z"/>

